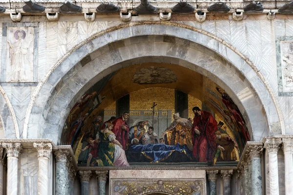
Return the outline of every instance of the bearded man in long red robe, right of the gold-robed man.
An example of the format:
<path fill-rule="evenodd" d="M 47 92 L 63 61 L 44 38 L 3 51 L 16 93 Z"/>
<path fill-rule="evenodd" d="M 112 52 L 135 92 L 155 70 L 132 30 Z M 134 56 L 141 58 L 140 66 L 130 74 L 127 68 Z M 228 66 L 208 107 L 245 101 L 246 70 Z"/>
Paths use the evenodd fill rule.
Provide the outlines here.
<path fill-rule="evenodd" d="M 192 155 L 198 162 L 211 162 L 212 154 L 216 149 L 214 135 L 217 131 L 217 121 L 208 111 L 199 107 L 192 109 L 195 117 L 192 125 Z"/>

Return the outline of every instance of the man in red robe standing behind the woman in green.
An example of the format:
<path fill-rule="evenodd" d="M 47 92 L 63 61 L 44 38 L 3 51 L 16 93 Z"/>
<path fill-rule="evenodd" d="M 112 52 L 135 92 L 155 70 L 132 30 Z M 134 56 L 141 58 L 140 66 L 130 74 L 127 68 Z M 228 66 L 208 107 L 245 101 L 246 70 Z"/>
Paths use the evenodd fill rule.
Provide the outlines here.
<path fill-rule="evenodd" d="M 126 123 L 126 120 L 128 118 L 129 114 L 125 112 L 121 117 L 118 117 L 113 121 L 112 132 L 115 134 L 116 140 L 118 140 L 119 143 L 122 145 L 123 150 L 126 150 L 128 142 L 129 126 Z"/>

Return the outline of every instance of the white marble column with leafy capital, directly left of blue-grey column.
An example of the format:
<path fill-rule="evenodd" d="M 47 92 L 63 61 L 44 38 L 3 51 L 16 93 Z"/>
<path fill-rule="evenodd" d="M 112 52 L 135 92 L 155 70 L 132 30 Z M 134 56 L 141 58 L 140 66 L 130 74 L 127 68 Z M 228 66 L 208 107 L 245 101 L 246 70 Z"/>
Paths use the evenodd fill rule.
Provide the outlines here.
<path fill-rule="evenodd" d="M 49 158 L 52 152 L 51 143 L 33 143 L 34 147 L 38 151 L 38 195 L 49 195 L 48 188 L 48 177 L 49 177 Z"/>

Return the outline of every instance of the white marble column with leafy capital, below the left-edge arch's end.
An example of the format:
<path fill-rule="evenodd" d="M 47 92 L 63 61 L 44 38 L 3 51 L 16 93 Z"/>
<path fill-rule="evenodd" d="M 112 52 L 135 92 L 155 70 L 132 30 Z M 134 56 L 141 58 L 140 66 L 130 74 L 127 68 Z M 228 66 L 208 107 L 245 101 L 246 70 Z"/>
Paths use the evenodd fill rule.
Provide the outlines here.
<path fill-rule="evenodd" d="M 18 194 L 18 158 L 21 143 L 2 143 L 7 152 L 7 195 Z"/>

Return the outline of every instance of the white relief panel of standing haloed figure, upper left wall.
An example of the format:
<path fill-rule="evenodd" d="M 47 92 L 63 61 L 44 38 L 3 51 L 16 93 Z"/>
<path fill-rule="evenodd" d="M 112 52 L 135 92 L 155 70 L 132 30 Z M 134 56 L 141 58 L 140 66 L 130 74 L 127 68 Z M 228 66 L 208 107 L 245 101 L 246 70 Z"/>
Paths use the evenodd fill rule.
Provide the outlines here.
<path fill-rule="evenodd" d="M 6 81 L 32 82 L 34 61 L 34 28 L 7 28 Z"/>

